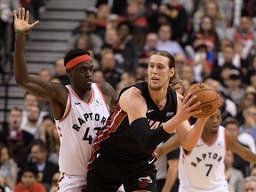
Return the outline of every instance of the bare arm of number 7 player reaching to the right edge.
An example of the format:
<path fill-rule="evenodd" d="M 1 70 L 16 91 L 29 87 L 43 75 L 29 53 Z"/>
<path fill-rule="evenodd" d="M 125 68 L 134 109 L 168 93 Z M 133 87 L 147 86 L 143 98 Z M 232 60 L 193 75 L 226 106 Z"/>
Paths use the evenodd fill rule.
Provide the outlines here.
<path fill-rule="evenodd" d="M 250 148 L 245 148 L 239 142 L 231 132 L 226 131 L 226 140 L 228 142 L 228 149 L 241 156 L 244 160 L 256 164 L 256 155 L 252 153 Z"/>

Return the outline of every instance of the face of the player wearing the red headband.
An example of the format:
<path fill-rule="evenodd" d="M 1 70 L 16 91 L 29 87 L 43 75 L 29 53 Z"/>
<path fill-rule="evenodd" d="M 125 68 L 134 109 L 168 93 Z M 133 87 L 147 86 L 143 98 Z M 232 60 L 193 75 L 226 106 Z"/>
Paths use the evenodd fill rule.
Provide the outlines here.
<path fill-rule="evenodd" d="M 67 70 L 71 84 L 79 90 L 91 90 L 92 85 L 92 61 L 84 61 L 76 67 Z"/>

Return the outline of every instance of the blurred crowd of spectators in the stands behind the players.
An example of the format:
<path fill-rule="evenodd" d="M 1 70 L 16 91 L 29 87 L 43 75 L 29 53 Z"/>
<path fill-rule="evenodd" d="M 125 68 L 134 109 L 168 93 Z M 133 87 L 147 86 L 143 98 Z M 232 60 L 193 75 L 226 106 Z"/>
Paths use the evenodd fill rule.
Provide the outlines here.
<path fill-rule="evenodd" d="M 40 20 L 44 1 L 2 1 L 1 44 L 6 44 L 4 31 L 12 23 L 12 9 L 20 4 Z M 196 82 L 211 84 L 220 94 L 222 125 L 256 152 L 255 0 L 98 0 L 85 13 L 68 44 L 91 52 L 94 82 L 107 81 L 120 92 L 147 81 L 148 56 L 166 50 L 174 56 L 182 80 L 178 91 L 182 94 Z M 62 58 L 54 69 L 52 74 L 42 68 L 38 76 L 69 84 Z M 0 185 L 5 191 L 22 191 L 19 185 L 34 182 L 54 191 L 60 142 L 47 102 L 26 93 L 24 108 L 12 108 L 0 140 Z M 244 191 L 244 178 L 256 175 L 253 164 L 229 152 L 225 162 L 230 191 Z M 238 179 L 231 168 L 241 173 Z M 33 172 L 32 181 L 26 178 L 28 171 Z"/>

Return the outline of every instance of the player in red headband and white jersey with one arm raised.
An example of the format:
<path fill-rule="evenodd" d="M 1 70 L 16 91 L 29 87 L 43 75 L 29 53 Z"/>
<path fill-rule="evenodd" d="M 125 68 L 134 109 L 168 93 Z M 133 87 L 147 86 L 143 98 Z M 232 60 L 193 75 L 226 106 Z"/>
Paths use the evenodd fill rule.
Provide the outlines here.
<path fill-rule="evenodd" d="M 60 180 L 58 192 L 80 192 L 86 184 L 87 162 L 97 132 L 104 127 L 109 106 L 116 92 L 110 84 L 92 83 L 90 52 L 71 50 L 65 56 L 65 67 L 71 84 L 64 86 L 28 75 L 25 45 L 28 32 L 39 21 L 28 24 L 29 12 L 14 11 L 14 76 L 25 91 L 51 103 L 52 114 L 60 136 Z"/>

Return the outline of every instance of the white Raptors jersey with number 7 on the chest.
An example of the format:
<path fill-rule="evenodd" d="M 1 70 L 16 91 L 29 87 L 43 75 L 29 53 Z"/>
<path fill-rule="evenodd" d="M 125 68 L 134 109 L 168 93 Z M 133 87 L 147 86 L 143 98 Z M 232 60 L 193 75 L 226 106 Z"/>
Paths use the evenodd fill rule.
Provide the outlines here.
<path fill-rule="evenodd" d="M 180 149 L 179 192 L 228 192 L 225 180 L 225 128 L 220 126 L 216 140 L 207 144 L 202 138 L 187 154 Z"/>

